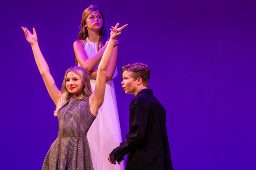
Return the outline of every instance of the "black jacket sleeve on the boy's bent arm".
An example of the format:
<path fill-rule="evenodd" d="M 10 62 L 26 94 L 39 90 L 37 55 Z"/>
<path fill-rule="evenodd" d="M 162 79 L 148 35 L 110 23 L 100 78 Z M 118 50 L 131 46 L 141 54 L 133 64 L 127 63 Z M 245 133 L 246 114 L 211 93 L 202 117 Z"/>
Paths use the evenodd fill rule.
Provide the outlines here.
<path fill-rule="evenodd" d="M 123 156 L 136 149 L 140 141 L 144 138 L 147 128 L 148 115 L 137 104 L 130 106 L 129 133 L 125 135 L 126 141 L 120 143 L 120 146 L 114 149 L 110 154 L 111 161 L 123 160 Z"/>

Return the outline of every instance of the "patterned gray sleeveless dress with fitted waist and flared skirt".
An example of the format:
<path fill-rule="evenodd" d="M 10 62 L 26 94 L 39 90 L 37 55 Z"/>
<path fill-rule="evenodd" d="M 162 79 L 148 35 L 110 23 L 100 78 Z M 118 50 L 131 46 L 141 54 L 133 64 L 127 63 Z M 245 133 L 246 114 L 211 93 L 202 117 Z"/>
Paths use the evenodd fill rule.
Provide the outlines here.
<path fill-rule="evenodd" d="M 50 147 L 42 170 L 93 170 L 87 131 L 95 116 L 89 98 L 71 98 L 60 109 L 59 133 Z"/>

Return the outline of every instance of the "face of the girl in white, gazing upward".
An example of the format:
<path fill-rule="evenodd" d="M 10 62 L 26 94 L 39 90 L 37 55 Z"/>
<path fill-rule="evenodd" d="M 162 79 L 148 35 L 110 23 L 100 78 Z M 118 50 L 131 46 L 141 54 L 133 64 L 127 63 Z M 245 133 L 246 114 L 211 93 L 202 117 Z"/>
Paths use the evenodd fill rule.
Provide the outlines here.
<path fill-rule="evenodd" d="M 99 11 L 93 11 L 90 13 L 90 15 L 86 18 L 86 24 L 84 26 L 91 31 L 101 31 L 101 28 L 103 27 L 101 13 Z"/>

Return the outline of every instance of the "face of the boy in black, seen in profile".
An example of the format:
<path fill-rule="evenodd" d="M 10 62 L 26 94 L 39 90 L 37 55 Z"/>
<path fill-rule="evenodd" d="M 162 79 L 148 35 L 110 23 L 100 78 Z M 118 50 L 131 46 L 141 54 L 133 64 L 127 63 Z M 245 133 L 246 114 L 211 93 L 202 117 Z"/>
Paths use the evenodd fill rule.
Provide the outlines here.
<path fill-rule="evenodd" d="M 137 80 L 138 79 L 134 80 L 131 71 L 123 72 L 123 81 L 121 82 L 121 84 L 123 85 L 122 87 L 124 88 L 126 94 L 136 94 L 139 88 Z"/>

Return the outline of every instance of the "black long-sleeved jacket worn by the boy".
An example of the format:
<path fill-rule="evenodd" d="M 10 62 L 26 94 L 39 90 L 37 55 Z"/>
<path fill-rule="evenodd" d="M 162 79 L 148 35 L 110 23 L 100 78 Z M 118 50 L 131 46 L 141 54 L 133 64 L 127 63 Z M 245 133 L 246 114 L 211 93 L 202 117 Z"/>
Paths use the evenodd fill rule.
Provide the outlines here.
<path fill-rule="evenodd" d="M 166 132 L 166 111 L 151 89 L 141 90 L 129 105 L 129 133 L 110 154 L 112 161 L 123 160 L 125 170 L 173 170 Z"/>

